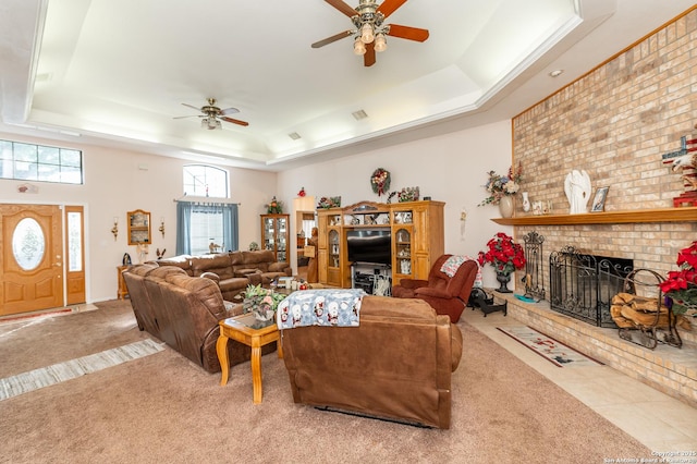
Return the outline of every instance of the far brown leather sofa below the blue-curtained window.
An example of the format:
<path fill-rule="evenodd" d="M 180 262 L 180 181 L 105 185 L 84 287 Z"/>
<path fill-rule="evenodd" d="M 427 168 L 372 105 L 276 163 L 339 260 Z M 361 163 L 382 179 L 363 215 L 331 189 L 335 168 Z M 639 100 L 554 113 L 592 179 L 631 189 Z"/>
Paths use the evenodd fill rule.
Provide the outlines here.
<path fill-rule="evenodd" d="M 175 266 L 192 277 L 216 280 L 223 300 L 233 301 L 247 285 L 268 285 L 273 279 L 293 274 L 288 262 L 277 261 L 273 252 L 230 252 L 211 255 L 180 255 L 151 261 L 158 266 Z M 215 274 L 215 276 L 212 276 Z"/>

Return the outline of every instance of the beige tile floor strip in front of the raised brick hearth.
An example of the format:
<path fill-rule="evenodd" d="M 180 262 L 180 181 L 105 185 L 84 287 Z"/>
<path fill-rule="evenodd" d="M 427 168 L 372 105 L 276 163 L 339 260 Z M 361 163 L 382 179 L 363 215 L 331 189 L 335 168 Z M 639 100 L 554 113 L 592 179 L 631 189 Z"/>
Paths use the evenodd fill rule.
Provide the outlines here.
<path fill-rule="evenodd" d="M 479 309 L 466 308 L 461 320 L 477 328 L 652 451 L 692 452 L 689 456 L 674 456 L 676 461 L 673 462 L 697 464 L 697 454 L 694 454 L 697 453 L 696 408 L 609 366 L 558 367 L 497 330 L 502 326 L 525 326 L 502 313 L 484 317 Z"/>

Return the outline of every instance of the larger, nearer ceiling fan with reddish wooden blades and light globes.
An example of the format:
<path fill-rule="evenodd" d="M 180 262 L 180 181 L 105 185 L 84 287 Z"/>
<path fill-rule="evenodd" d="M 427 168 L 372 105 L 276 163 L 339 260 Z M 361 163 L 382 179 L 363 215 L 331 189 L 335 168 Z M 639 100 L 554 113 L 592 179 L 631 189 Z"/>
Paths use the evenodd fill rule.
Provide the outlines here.
<path fill-rule="evenodd" d="M 384 51 L 388 42 L 384 36 L 399 37 L 407 40 L 425 41 L 428 29 L 401 26 L 399 24 L 383 24 L 383 21 L 402 7 L 406 0 L 384 0 L 379 7 L 375 0 L 359 0 L 358 7 L 351 8 L 342 0 L 325 0 L 337 10 L 351 17 L 355 29 L 344 30 L 313 44 L 313 48 L 320 48 L 344 37 L 354 36 L 353 51 L 363 54 L 366 66 L 375 64 L 375 52 Z"/>

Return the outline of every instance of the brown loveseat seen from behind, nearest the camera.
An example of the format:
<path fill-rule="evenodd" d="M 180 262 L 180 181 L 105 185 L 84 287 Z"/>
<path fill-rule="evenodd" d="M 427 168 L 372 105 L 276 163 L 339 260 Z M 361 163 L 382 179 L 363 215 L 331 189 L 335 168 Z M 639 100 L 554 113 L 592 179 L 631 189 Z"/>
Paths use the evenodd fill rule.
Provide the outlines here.
<path fill-rule="evenodd" d="M 420 300 L 368 295 L 359 318 L 282 331 L 295 403 L 450 428 L 460 329 Z"/>

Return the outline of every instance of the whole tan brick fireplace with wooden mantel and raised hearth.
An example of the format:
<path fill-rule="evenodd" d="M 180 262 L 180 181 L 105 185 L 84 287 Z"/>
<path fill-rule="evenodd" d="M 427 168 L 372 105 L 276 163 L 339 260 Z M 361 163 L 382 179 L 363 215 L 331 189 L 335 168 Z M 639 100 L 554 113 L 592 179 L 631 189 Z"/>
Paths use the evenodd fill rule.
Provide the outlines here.
<path fill-rule="evenodd" d="M 522 191 L 530 202 L 551 204 L 551 211 L 531 217 L 518 200 L 513 219 L 497 222 L 513 225 L 521 242 L 530 233 L 543 235 L 543 262 L 571 244 L 664 276 L 675 269 L 677 252 L 697 240 L 697 208 L 675 213 L 673 207 L 673 198 L 690 187 L 662 162 L 663 154 L 680 149 L 681 137 L 697 136 L 690 71 L 697 69 L 696 35 L 694 7 L 513 118 L 513 162 L 523 168 Z M 589 174 L 594 194 L 610 187 L 607 212 L 568 215 L 564 178 L 572 170 Z M 516 282 L 523 277 L 518 272 Z M 540 278 L 550 282 L 548 266 Z M 683 338 L 688 345 L 682 351 L 664 345 L 651 351 L 621 340 L 614 329 L 554 312 L 549 297 L 538 304 L 508 300 L 510 316 L 697 407 L 697 369 L 673 358 L 690 343 L 697 346 L 697 327 Z"/>

